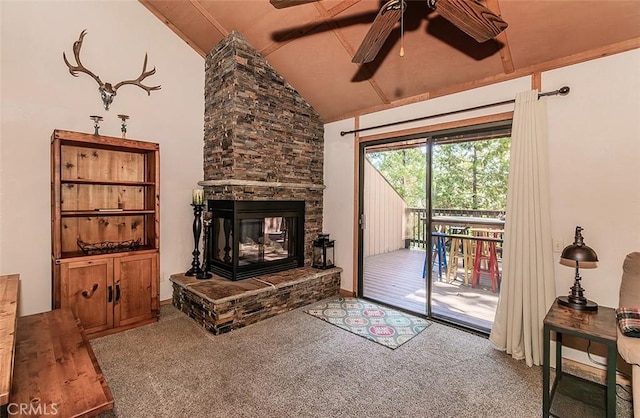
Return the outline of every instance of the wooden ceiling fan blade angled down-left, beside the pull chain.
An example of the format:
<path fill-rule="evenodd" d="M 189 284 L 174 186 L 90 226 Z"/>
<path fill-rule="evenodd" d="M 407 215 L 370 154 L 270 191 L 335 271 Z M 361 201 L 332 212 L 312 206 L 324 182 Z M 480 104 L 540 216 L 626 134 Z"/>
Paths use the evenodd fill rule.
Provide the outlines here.
<path fill-rule="evenodd" d="M 374 60 L 406 7 L 401 2 L 402 0 L 390 0 L 382 6 L 351 62 L 363 64 Z"/>

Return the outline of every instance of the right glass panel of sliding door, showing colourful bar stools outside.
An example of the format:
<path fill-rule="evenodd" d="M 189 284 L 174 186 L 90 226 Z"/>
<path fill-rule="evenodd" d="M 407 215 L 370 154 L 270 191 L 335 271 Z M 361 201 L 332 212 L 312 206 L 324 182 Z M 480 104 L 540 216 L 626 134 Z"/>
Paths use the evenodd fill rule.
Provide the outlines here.
<path fill-rule="evenodd" d="M 432 316 L 483 332 L 502 278 L 509 132 L 432 138 Z"/>

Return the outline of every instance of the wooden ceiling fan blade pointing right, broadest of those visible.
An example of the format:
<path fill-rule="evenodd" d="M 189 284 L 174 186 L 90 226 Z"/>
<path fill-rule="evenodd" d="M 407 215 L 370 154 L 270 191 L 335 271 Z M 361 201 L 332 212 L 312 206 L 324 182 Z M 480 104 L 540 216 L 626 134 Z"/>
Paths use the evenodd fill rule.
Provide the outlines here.
<path fill-rule="evenodd" d="M 508 26 L 476 0 L 428 0 L 427 4 L 478 42 L 494 38 Z"/>

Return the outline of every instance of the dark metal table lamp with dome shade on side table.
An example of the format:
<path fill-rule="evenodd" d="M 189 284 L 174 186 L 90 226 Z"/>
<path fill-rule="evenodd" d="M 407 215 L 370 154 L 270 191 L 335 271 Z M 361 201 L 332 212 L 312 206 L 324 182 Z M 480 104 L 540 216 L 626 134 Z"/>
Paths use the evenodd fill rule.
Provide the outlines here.
<path fill-rule="evenodd" d="M 597 311 L 598 304 L 584 297 L 584 289 L 580 285 L 580 267 L 595 268 L 595 263 L 598 261 L 596 252 L 585 245 L 582 231 L 582 227 L 576 226 L 576 235 L 573 244 L 566 246 L 560 255 L 560 264 L 575 267 L 576 277 L 569 296 L 559 297 L 558 304 L 578 311 Z"/>

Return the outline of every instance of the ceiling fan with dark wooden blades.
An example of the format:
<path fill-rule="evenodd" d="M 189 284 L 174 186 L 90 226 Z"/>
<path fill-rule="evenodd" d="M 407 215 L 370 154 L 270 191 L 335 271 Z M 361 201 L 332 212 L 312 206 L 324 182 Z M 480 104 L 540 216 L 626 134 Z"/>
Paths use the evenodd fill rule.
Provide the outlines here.
<path fill-rule="evenodd" d="M 318 0 L 270 0 L 273 7 L 282 9 L 299 4 L 313 3 Z M 440 16 L 453 23 L 460 30 L 478 42 L 496 37 L 508 26 L 507 22 L 493 13 L 477 0 L 426 0 L 427 6 Z M 382 6 L 365 35 L 352 62 L 363 64 L 371 62 L 391 34 L 393 27 L 406 9 L 403 0 L 389 0 Z"/>

